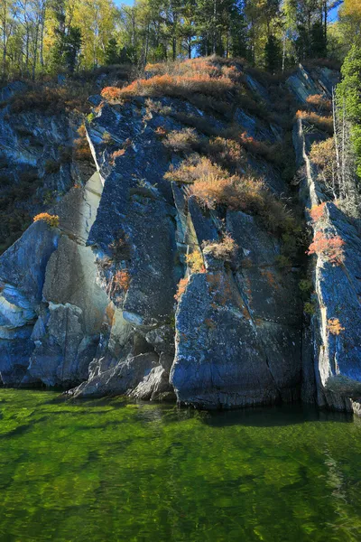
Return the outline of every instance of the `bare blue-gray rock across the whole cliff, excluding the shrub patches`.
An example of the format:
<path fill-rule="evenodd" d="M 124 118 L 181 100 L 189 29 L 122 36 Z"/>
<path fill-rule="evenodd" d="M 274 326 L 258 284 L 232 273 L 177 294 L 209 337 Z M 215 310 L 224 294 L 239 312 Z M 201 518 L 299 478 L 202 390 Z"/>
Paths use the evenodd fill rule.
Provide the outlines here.
<path fill-rule="evenodd" d="M 267 103 L 267 90 L 245 79 Z M 327 70 L 300 69 L 288 85 L 304 101 L 327 91 L 328 81 Z M 98 96 L 89 100 L 100 103 Z M 187 115 L 202 117 L 215 131 L 235 123 L 259 140 L 282 136 L 245 111 L 230 109 L 220 120 L 177 98 L 152 105 L 135 97 L 97 107 L 88 124 L 97 173 L 84 190 L 74 188 L 58 202 L 60 229 L 34 224 L 0 258 L 1 382 L 72 388 L 72 397 L 125 394 L 207 408 L 301 397 L 360 410 L 356 224 L 326 206 L 323 229 L 345 240 L 345 262 L 332 266 L 318 258 L 318 308 L 309 327 L 300 271 L 280 269 L 281 241 L 264 222 L 220 206 L 205 210 L 190 192 L 164 180 L 180 155 L 162 136 L 187 126 Z M 45 135 L 48 128 L 40 128 Z M 14 130 L 6 130 L 0 145 L 9 153 Z M 204 142 L 206 135 L 199 136 Z M 304 137 L 301 120 L 293 136 L 297 163 L 306 164 L 301 201 L 310 207 L 325 194 L 313 180 L 312 139 Z M 37 163 L 31 147 L 16 149 L 17 158 Z M 273 193 L 290 193 L 271 164 L 251 154 L 248 164 Z M 204 245 L 225 231 L 237 246 L 229 261 Z M 204 263 L 201 272 L 187 257 L 194 251 Z M 180 278 L 188 280 L 176 304 Z M 339 334 L 330 332 L 336 319 L 345 328 Z"/>

